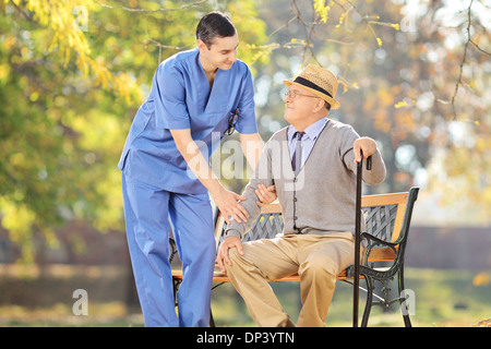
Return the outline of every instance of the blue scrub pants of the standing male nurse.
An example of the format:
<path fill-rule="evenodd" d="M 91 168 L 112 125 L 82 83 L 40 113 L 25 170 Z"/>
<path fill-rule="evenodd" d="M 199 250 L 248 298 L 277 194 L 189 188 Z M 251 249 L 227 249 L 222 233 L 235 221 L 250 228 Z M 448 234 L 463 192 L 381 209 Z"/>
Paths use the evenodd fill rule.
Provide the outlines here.
<path fill-rule="evenodd" d="M 145 326 L 207 326 L 215 265 L 207 194 L 171 193 L 122 174 L 127 237 Z M 169 264 L 169 220 L 182 261 L 176 314 Z"/>

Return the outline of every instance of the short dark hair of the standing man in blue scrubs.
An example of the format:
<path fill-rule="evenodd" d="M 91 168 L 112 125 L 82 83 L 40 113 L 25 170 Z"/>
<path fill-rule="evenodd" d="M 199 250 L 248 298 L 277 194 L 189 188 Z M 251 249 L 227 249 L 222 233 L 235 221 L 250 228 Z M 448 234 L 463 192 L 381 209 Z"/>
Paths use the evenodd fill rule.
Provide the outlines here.
<path fill-rule="evenodd" d="M 215 38 L 233 36 L 236 33 L 236 27 L 226 14 L 213 11 L 197 23 L 196 39 L 201 39 L 209 49 Z"/>

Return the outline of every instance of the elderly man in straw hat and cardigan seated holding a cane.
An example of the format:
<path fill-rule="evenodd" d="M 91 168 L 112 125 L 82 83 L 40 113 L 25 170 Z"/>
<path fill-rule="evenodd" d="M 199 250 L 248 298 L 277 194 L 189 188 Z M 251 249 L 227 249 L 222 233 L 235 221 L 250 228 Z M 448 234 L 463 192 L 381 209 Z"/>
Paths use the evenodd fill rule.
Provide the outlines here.
<path fill-rule="evenodd" d="M 382 182 L 385 165 L 373 140 L 327 119 L 331 109 L 339 108 L 333 73 L 310 64 L 295 81 L 284 83 L 289 87 L 285 98 L 289 125 L 266 143 L 243 193 L 248 200 L 242 205 L 250 218 L 229 225 L 217 263 L 258 325 L 294 325 L 268 281 L 298 273 L 302 309 L 297 326 L 324 326 L 336 275 L 355 260 L 360 149 L 366 157 L 372 156 L 364 182 Z M 256 201 L 273 184 L 283 210 L 283 234 L 242 244 L 241 238 L 261 212 Z"/>

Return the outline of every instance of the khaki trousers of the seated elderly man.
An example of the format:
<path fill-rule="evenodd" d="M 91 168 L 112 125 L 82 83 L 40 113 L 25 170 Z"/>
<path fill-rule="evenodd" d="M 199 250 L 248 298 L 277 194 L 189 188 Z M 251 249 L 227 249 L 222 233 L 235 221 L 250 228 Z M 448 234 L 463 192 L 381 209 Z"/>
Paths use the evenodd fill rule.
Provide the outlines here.
<path fill-rule="evenodd" d="M 302 309 L 297 326 L 321 327 L 333 299 L 336 276 L 354 264 L 351 232 L 288 234 L 243 244 L 243 256 L 229 250 L 227 275 L 259 326 L 291 326 L 268 281 L 298 273 Z"/>

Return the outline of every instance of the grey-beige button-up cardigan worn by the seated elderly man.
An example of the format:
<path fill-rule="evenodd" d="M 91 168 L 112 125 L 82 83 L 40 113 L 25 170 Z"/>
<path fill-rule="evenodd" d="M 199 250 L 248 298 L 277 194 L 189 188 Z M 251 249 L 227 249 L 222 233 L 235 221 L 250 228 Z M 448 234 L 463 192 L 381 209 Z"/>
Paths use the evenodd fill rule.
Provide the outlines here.
<path fill-rule="evenodd" d="M 250 218 L 246 224 L 232 221 L 227 236 L 243 237 L 261 207 L 255 203 L 259 183 L 274 184 L 284 218 L 284 234 L 355 233 L 356 164 L 352 145 L 359 135 L 342 122 L 330 120 L 320 133 L 302 169 L 295 177 L 287 142 L 287 129 L 273 134 L 265 144 L 258 168 L 246 186 L 242 205 Z M 363 181 L 378 184 L 385 178 L 385 164 L 378 151 L 372 169 L 363 170 Z M 361 222 L 362 230 L 364 221 Z"/>

